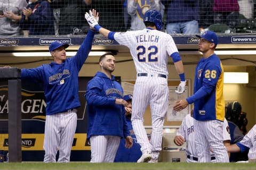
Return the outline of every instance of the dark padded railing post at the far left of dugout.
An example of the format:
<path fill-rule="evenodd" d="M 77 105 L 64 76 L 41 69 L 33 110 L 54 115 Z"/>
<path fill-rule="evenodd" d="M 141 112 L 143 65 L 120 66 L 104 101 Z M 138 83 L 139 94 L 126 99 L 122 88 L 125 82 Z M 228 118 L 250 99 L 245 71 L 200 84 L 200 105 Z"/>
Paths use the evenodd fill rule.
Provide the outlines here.
<path fill-rule="evenodd" d="M 0 81 L 8 81 L 9 162 L 21 162 L 21 70 L 0 68 Z"/>

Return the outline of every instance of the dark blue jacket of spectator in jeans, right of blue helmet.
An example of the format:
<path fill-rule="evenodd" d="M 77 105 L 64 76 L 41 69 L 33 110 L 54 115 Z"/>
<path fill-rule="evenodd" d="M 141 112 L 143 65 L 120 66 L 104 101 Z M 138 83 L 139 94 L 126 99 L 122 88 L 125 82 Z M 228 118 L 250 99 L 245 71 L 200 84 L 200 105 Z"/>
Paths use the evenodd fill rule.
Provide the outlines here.
<path fill-rule="evenodd" d="M 198 0 L 162 0 L 167 5 L 166 23 L 182 21 L 199 21 Z"/>

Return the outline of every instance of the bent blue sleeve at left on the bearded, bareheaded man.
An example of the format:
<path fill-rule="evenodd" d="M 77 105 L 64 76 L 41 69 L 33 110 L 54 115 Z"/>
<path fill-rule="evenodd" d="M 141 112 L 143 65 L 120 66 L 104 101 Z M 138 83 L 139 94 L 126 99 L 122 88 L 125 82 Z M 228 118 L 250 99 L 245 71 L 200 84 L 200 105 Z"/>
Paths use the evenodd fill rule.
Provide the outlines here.
<path fill-rule="evenodd" d="M 94 106 L 114 106 L 115 98 L 109 98 L 101 95 L 103 90 L 102 80 L 92 79 L 87 84 L 87 89 L 85 92 L 86 102 L 89 105 Z"/>

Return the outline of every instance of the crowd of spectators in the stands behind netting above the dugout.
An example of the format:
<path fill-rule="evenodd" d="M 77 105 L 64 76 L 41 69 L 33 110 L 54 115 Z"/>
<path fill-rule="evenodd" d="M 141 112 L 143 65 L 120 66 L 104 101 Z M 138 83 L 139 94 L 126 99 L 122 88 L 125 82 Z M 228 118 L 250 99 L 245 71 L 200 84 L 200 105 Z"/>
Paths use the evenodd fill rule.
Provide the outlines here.
<path fill-rule="evenodd" d="M 113 31 L 145 28 L 149 9 L 161 12 L 170 34 L 195 34 L 222 25 L 231 32 L 256 31 L 255 0 L 0 0 L 0 36 L 85 35 L 85 12 L 95 8 L 100 25 Z M 255 20 L 255 21 L 254 21 Z M 223 32 L 223 30 L 213 30 Z M 223 33 L 230 33 L 224 30 Z"/>

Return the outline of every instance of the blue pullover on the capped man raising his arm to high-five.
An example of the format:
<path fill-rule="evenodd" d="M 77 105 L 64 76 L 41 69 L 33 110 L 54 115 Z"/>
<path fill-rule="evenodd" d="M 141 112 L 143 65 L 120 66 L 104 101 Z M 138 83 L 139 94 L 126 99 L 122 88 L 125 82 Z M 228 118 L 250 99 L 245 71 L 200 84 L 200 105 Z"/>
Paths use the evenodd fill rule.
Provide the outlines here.
<path fill-rule="evenodd" d="M 81 106 L 78 97 L 78 72 L 92 48 L 94 32 L 89 30 L 75 56 L 61 64 L 43 64 L 34 69 L 22 69 L 21 80 L 43 82 L 46 115 L 66 112 Z"/>

